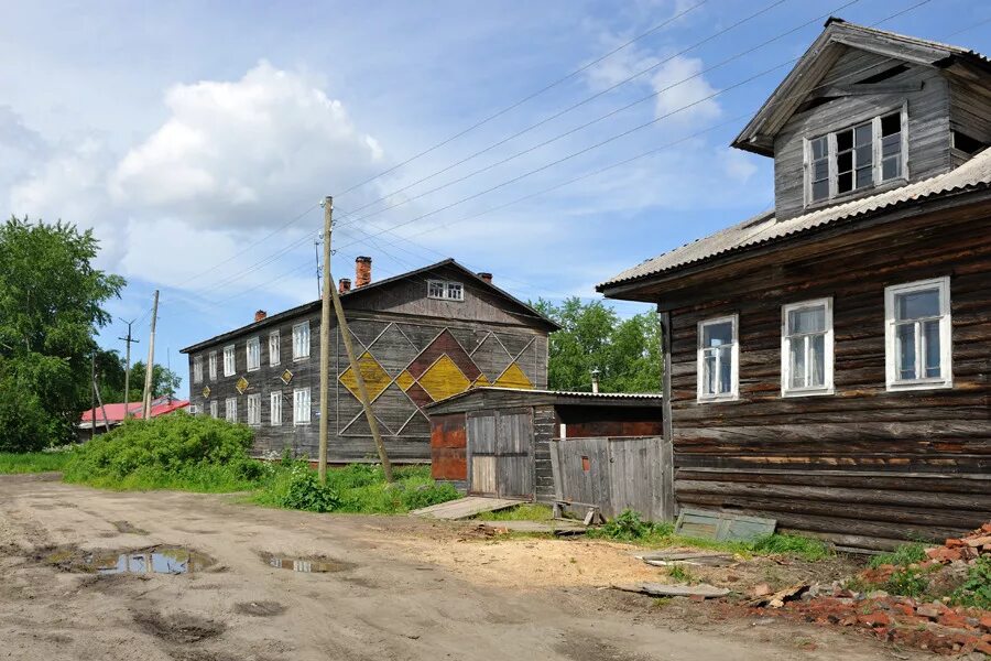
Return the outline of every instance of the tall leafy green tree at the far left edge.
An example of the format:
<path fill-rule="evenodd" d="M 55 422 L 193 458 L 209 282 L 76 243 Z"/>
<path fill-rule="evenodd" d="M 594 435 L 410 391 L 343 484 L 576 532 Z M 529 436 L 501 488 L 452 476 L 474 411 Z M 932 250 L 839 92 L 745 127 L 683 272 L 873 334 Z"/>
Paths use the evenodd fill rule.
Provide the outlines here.
<path fill-rule="evenodd" d="M 92 267 L 98 250 L 74 225 L 0 225 L 0 451 L 68 442 L 89 407 L 101 305 L 124 285 Z"/>

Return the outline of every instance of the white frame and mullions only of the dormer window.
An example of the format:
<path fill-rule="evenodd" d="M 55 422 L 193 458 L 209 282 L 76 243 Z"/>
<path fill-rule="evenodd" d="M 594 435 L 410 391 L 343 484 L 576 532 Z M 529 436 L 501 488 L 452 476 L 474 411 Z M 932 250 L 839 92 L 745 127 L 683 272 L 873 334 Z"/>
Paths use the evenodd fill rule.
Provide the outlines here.
<path fill-rule="evenodd" d="M 902 150 L 901 150 L 901 159 L 902 162 L 900 164 L 900 174 L 899 176 L 892 177 L 890 180 L 882 180 L 883 176 L 883 163 L 881 158 L 881 118 L 887 117 L 889 115 L 893 115 L 897 112 L 901 118 L 901 140 L 902 140 Z M 839 192 L 838 187 L 838 166 L 837 166 L 837 142 L 836 134 L 841 133 L 843 131 L 853 129 L 854 127 L 859 127 L 864 123 L 871 123 L 871 185 L 864 186 L 862 188 L 857 188 L 857 171 L 853 171 L 853 188 L 850 191 L 845 191 L 842 193 Z M 829 194 L 823 199 L 813 199 L 813 150 L 812 142 L 818 140 L 820 138 L 827 139 L 828 144 L 828 161 L 829 161 Z M 803 197 L 805 206 L 818 206 L 824 204 L 829 204 L 836 199 L 848 199 L 849 197 L 856 196 L 858 194 L 862 194 L 864 192 L 873 191 L 883 184 L 887 184 L 891 182 L 897 181 L 908 181 L 908 102 L 905 101 L 902 104 L 901 108 L 892 107 L 882 112 L 871 111 L 870 115 L 860 117 L 857 121 L 848 121 L 842 127 L 828 131 L 826 133 L 819 133 L 813 136 L 810 138 L 803 138 Z"/>

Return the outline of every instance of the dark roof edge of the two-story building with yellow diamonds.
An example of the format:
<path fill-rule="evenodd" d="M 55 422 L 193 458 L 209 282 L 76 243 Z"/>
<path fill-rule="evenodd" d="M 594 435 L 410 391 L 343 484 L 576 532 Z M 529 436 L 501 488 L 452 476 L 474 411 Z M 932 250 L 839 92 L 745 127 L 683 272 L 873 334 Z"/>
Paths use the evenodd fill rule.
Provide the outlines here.
<path fill-rule="evenodd" d="M 524 303 L 520 299 L 516 299 L 515 296 L 513 296 L 512 294 L 510 294 L 502 288 L 496 286 L 491 282 L 487 282 L 486 280 L 482 280 L 481 278 L 478 277 L 477 273 L 475 273 L 470 269 L 464 267 L 462 264 L 459 264 L 454 258 L 450 258 L 450 257 L 447 259 L 440 260 L 438 262 L 435 262 L 433 264 L 423 267 L 421 269 L 414 269 L 413 271 L 406 271 L 405 273 L 400 273 L 399 275 L 393 275 L 391 278 L 385 278 L 383 280 L 375 280 L 364 286 L 360 286 L 357 289 L 352 289 L 348 292 L 345 292 L 345 293 L 340 294 L 341 304 L 344 306 L 347 306 L 349 302 L 358 301 L 362 297 L 368 296 L 369 292 L 374 294 L 377 292 L 381 292 L 383 288 L 388 286 L 391 283 L 395 283 L 401 280 L 405 280 L 407 278 L 416 278 L 418 275 L 423 275 L 424 273 L 427 273 L 428 271 L 434 271 L 434 270 L 442 269 L 442 268 L 451 268 L 457 271 L 460 271 L 466 278 L 471 280 L 471 283 L 475 286 L 487 289 L 487 290 L 492 291 L 493 293 L 498 294 L 499 296 L 505 299 L 507 301 L 512 303 L 519 310 L 519 312 L 522 316 L 524 316 L 526 318 L 531 318 L 533 321 L 534 326 L 542 327 L 548 332 L 554 332 L 559 328 L 559 326 L 555 322 L 547 318 L 545 315 L 543 315 L 541 312 L 535 310 L 533 306 L 529 305 L 527 303 Z M 194 345 L 189 345 L 188 347 L 179 349 L 179 351 L 183 354 L 189 354 L 193 351 L 197 351 L 209 345 L 218 344 L 226 339 L 230 339 L 232 337 L 238 337 L 244 333 L 248 333 L 249 330 L 253 332 L 259 328 L 264 328 L 265 326 L 272 326 L 272 325 L 279 324 L 287 318 L 291 318 L 291 317 L 294 317 L 294 316 L 297 316 L 301 314 L 305 314 L 308 312 L 316 312 L 319 308 L 320 308 L 320 299 L 317 299 L 316 301 L 311 301 L 309 303 L 304 303 L 302 305 L 291 307 L 288 310 L 280 312 L 277 314 L 269 315 L 260 322 L 253 322 L 251 324 L 246 324 L 244 326 L 235 328 L 233 330 L 228 330 L 226 333 L 221 333 L 220 335 L 215 335 L 214 337 L 210 337 L 209 339 L 205 339 L 203 342 L 198 342 Z"/>

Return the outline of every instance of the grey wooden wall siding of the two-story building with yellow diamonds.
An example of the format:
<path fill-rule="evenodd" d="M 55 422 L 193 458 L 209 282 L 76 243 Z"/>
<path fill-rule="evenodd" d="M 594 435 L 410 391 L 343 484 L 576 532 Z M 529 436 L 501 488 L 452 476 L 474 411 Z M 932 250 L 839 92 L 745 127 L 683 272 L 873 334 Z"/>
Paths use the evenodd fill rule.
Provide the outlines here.
<path fill-rule="evenodd" d="M 425 292 L 417 289 L 420 294 Z M 378 296 L 379 294 L 375 294 Z M 443 303 L 443 302 L 442 302 Z M 487 306 L 480 303 L 478 310 Z M 458 308 L 464 311 L 464 308 Z M 457 312 L 457 311 L 455 311 Z M 478 314 L 476 316 L 487 316 Z M 393 360 L 399 355 L 398 348 L 401 342 L 405 342 L 398 334 L 390 335 L 386 330 L 390 324 L 395 324 L 404 329 L 417 351 L 442 330 L 449 329 L 458 343 L 470 353 L 473 348 L 472 338 L 483 338 L 490 333 L 498 334 L 500 342 L 510 347 L 520 347 L 523 354 L 519 362 L 527 378 L 534 381 L 536 388 L 546 388 L 547 378 L 547 338 L 545 332 L 535 328 L 532 319 L 526 325 L 521 325 L 507 313 L 496 310 L 488 316 L 501 322 L 513 321 L 514 325 L 507 323 L 486 322 L 476 323 L 465 321 L 457 316 L 454 318 L 436 318 L 431 316 L 415 316 L 406 313 L 390 313 L 355 310 L 348 311 L 349 326 L 356 343 L 356 351 L 360 355 L 364 348 L 374 345 L 374 356 L 390 376 L 395 376 L 405 365 L 402 358 Z M 294 361 L 292 358 L 292 327 L 304 319 L 309 321 L 311 350 L 309 358 Z M 269 334 L 277 329 L 280 333 L 279 366 L 269 366 Z M 259 337 L 261 346 L 261 367 L 259 370 L 247 371 L 246 343 L 251 337 Z M 236 371 L 231 377 L 224 376 L 224 347 L 235 345 Z M 524 349 L 525 347 L 525 349 Z M 396 350 L 393 350 L 396 349 Z M 209 353 L 216 350 L 218 357 L 217 379 L 209 378 Z M 328 457 L 331 462 L 377 462 L 368 423 L 361 413 L 361 407 L 357 399 L 351 397 L 338 376 L 347 369 L 348 360 L 340 342 L 337 324 L 331 332 L 331 360 L 330 360 L 330 408 L 327 411 L 330 441 Z M 209 414 L 211 400 L 219 402 L 218 414 L 224 418 L 225 401 L 233 397 L 238 400 L 238 421 L 247 423 L 249 394 L 261 394 L 261 425 L 255 429 L 255 442 L 252 453 L 261 456 L 265 453 L 281 454 L 288 447 L 297 456 L 306 455 L 311 458 L 317 456 L 318 427 L 319 427 L 319 314 L 305 313 L 295 317 L 287 317 L 280 323 L 249 329 L 233 339 L 227 339 L 213 346 L 206 346 L 200 350 L 189 354 L 189 390 L 190 403 L 195 404 L 204 414 Z M 193 383 L 193 360 L 195 356 L 203 357 L 204 380 Z M 407 361 L 407 360 L 406 360 Z M 507 364 L 509 359 L 507 359 Z M 293 372 L 292 381 L 285 384 L 281 375 L 285 369 Z M 246 392 L 239 393 L 236 383 L 240 377 L 248 382 Z M 209 386 L 209 398 L 204 397 L 204 387 Z M 308 387 L 311 389 L 311 422 L 304 425 L 293 424 L 293 390 Z M 271 426 L 270 395 L 273 391 L 283 393 L 282 425 Z M 380 394 L 372 404 L 377 418 L 383 427 L 382 433 L 390 458 L 398 462 L 428 462 L 429 423 L 425 415 L 415 414 L 418 410 L 409 398 L 395 386 L 390 386 Z M 412 418 L 411 418 L 412 415 Z"/>

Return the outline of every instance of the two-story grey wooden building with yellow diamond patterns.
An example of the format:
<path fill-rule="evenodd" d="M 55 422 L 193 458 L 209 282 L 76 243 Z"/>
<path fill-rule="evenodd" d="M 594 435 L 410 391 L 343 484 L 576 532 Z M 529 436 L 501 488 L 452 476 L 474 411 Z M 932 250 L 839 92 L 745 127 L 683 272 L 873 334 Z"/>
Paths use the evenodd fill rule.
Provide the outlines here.
<path fill-rule="evenodd" d="M 475 386 L 547 387 L 547 334 L 557 326 L 453 259 L 372 282 L 356 261 L 339 282 L 359 366 L 390 458 L 426 462 L 422 407 Z M 320 301 L 183 349 L 196 410 L 257 429 L 254 453 L 315 458 L 318 447 Z M 378 460 L 339 327 L 331 330 L 331 462 Z"/>

